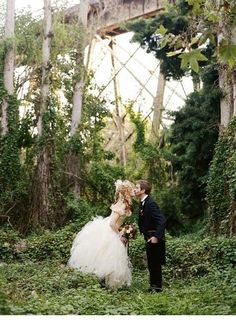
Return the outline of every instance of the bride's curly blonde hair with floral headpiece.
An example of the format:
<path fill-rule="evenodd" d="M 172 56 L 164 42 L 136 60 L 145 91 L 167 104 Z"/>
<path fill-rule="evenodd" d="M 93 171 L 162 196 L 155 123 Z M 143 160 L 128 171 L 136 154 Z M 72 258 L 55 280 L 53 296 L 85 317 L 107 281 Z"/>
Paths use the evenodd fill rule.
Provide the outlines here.
<path fill-rule="evenodd" d="M 131 214 L 132 208 L 132 197 L 131 193 L 134 185 L 128 180 L 117 180 L 115 182 L 116 192 L 115 192 L 115 202 L 121 199 L 125 204 L 125 211 Z"/>

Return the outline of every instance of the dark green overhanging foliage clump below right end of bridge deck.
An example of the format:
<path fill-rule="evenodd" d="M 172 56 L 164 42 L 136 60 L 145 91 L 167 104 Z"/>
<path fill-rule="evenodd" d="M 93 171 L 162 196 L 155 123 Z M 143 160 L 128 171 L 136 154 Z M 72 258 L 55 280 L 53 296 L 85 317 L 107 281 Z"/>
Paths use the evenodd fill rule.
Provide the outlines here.
<path fill-rule="evenodd" d="M 187 41 L 191 41 L 190 24 L 191 6 L 187 1 L 180 0 L 174 6 L 167 7 L 164 13 L 158 14 L 153 19 L 131 22 L 127 28 L 134 32 L 133 41 L 140 42 L 147 52 L 152 52 L 160 60 L 160 70 L 165 78 L 178 80 L 184 75 L 190 74 L 190 71 L 182 68 L 181 59 L 170 52 L 173 51 L 173 43 L 178 49 L 182 48 L 185 33 L 188 33 Z M 171 42 L 168 39 L 168 34 L 171 35 Z M 192 31 L 191 36 L 194 35 L 196 34 Z M 211 58 L 213 55 L 212 45 L 207 45 L 202 52 L 206 57 Z M 200 65 L 204 66 L 206 62 L 201 61 Z M 192 71 L 191 74 L 193 80 L 198 82 L 196 72 Z"/>

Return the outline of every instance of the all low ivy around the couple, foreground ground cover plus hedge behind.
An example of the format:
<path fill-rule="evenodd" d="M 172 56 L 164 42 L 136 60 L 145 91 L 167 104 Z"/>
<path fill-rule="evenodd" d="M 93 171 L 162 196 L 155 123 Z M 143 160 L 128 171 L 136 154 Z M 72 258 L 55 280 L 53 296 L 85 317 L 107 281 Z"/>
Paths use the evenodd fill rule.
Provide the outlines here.
<path fill-rule="evenodd" d="M 147 293 L 144 242 L 140 236 L 129 248 L 134 267 L 131 287 L 115 292 L 101 289 L 96 277 L 69 269 L 68 252 L 77 227 L 79 224 L 25 239 L 9 230 L 1 231 L 3 312 L 81 315 L 235 312 L 235 239 L 202 239 L 201 234 L 178 239 L 167 236 L 164 291 L 157 299 Z"/>

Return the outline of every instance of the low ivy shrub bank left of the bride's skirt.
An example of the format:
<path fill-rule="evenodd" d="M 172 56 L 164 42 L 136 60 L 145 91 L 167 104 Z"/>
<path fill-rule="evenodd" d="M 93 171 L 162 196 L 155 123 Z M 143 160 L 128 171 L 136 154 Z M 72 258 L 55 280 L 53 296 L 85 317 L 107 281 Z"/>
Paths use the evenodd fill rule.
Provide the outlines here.
<path fill-rule="evenodd" d="M 101 215 L 97 207 L 84 200 L 69 202 L 68 210 L 71 210 L 73 222 L 64 228 L 52 231 L 42 230 L 23 238 L 12 229 L 0 229 L 0 260 L 10 262 L 12 260 L 42 261 L 46 259 L 61 260 L 65 263 L 70 255 L 70 248 L 77 232 L 96 215 Z"/>

